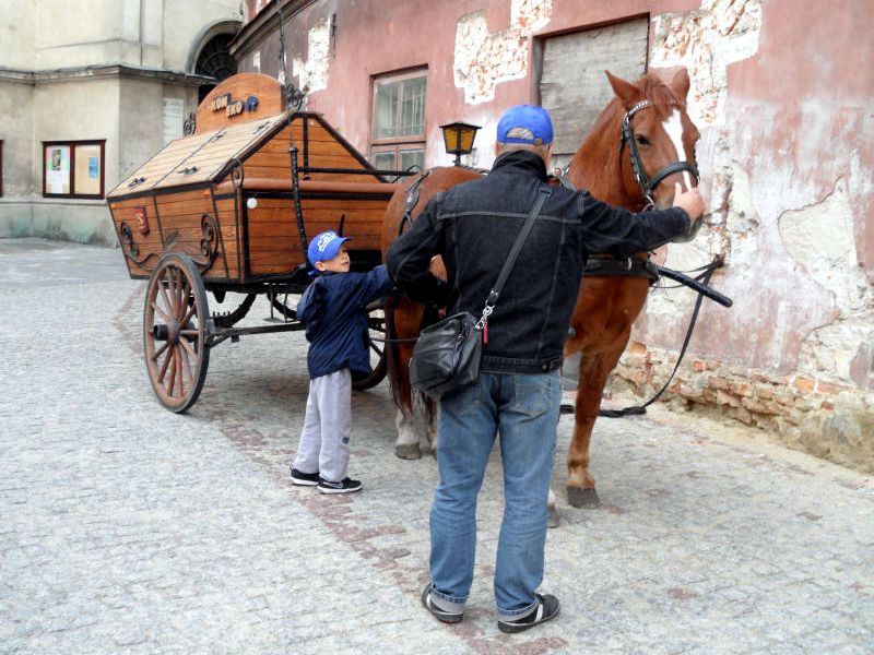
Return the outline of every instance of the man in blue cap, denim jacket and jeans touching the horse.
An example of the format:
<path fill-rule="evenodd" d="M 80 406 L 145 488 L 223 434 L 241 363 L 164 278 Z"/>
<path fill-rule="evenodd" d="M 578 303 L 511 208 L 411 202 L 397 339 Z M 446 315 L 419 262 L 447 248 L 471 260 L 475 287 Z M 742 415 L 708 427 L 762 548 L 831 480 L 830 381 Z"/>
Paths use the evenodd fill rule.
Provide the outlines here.
<path fill-rule="evenodd" d="M 539 192 L 546 184 L 553 128 L 541 107 L 508 109 L 488 176 L 438 194 L 389 250 L 389 275 L 409 297 L 479 315 Z M 704 212 L 697 189 L 674 207 L 631 214 L 586 191 L 552 190 L 488 319 L 476 383 L 440 400 L 440 479 L 430 512 L 425 607 L 461 621 L 473 581 L 476 497 L 500 431 L 505 510 L 495 567 L 498 628 L 520 632 L 558 614 L 543 580 L 546 499 L 562 398 L 562 350 L 590 253 L 658 248 Z M 449 282 L 428 272 L 439 254 Z"/>

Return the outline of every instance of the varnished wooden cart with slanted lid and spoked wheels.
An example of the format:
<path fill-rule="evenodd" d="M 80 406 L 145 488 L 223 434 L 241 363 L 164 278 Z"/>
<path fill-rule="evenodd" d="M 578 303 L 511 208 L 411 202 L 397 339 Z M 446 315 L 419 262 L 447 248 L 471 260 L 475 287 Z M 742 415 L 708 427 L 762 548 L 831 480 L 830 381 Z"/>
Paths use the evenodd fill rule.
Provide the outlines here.
<path fill-rule="evenodd" d="M 197 402 L 210 349 L 244 334 L 302 330 L 290 295 L 308 274 L 308 239 L 326 229 L 352 237 L 353 270 L 381 262 L 382 218 L 394 191 L 321 118 L 287 112 L 273 78 L 243 73 L 200 104 L 192 134 L 169 143 L 107 196 L 132 278 L 149 279 L 143 345 L 161 403 L 185 412 Z M 392 171 L 393 172 L 393 171 Z M 228 293 L 231 311 L 211 313 Z M 235 327 L 259 294 L 277 324 Z M 381 307 L 368 308 L 373 331 L 385 333 Z M 386 374 L 379 342 L 374 372 Z"/>

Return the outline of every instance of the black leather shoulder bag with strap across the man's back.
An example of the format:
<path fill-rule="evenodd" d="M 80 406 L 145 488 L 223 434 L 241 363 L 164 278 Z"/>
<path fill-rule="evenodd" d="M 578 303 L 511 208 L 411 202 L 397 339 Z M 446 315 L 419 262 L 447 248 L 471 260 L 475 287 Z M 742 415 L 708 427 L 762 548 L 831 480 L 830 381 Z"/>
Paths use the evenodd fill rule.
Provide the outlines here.
<path fill-rule="evenodd" d="M 477 320 L 469 311 L 462 311 L 420 332 L 410 359 L 410 383 L 415 389 L 439 401 L 446 392 L 476 381 L 480 376 L 484 333 L 488 334 L 488 317 L 495 310 L 495 303 L 510 270 L 550 193 L 552 193 L 551 187 L 541 187 L 540 198 L 528 215 L 507 261 L 504 262 L 498 281 L 488 293 L 480 319 Z"/>

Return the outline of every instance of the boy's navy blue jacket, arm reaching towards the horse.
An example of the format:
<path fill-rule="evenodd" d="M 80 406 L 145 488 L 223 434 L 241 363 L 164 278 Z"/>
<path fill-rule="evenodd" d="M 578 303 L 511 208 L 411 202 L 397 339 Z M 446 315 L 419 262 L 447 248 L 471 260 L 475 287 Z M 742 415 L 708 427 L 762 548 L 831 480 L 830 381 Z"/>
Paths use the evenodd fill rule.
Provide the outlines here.
<path fill-rule="evenodd" d="M 297 303 L 297 320 L 307 329 L 310 378 L 344 368 L 370 372 L 365 307 L 391 286 L 385 265 L 369 273 L 326 273 L 312 281 Z"/>

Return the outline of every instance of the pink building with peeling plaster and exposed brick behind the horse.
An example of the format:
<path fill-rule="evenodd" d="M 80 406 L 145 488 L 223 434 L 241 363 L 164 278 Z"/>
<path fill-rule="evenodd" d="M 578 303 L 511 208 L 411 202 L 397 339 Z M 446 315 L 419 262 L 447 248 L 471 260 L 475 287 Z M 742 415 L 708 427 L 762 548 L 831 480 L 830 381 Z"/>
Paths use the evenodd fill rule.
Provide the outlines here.
<path fill-rule="evenodd" d="M 757 426 L 874 472 L 874 24 L 867 0 L 245 1 L 240 71 L 288 81 L 381 167 L 446 165 L 440 126 L 482 127 L 464 163 L 492 162 L 516 103 L 550 108 L 567 160 L 634 79 L 684 66 L 709 201 L 668 265 L 724 258 L 671 386 L 677 407 Z M 668 378 L 695 297 L 656 289 L 614 388 Z M 634 429 L 634 428 L 629 428 Z"/>

